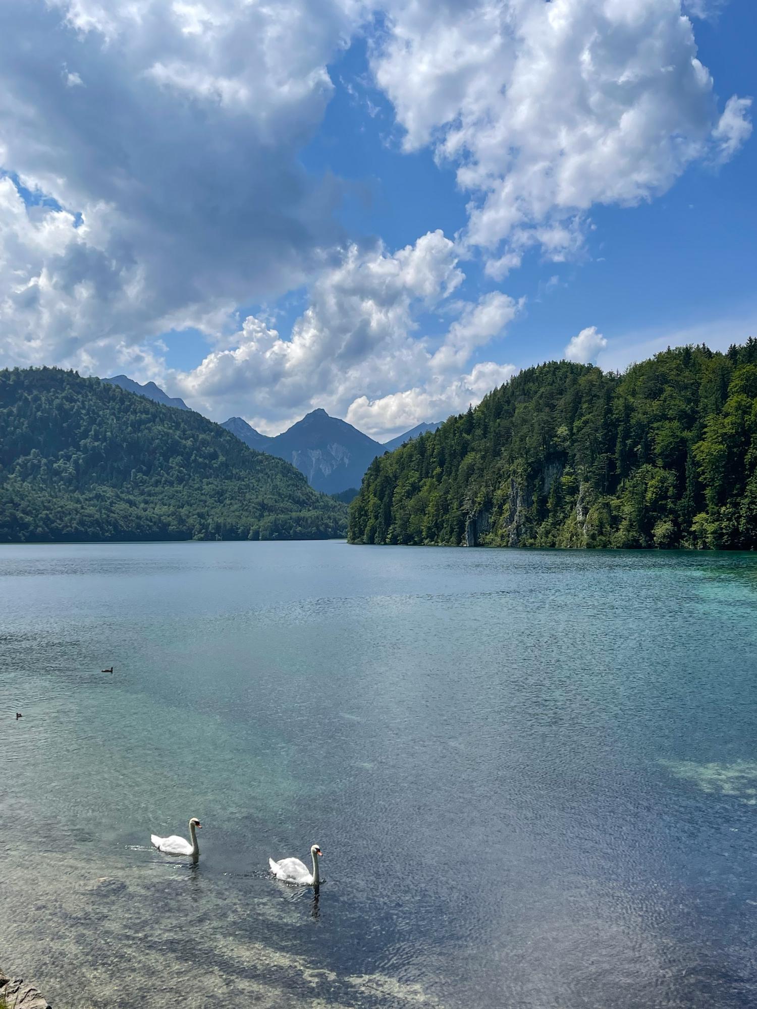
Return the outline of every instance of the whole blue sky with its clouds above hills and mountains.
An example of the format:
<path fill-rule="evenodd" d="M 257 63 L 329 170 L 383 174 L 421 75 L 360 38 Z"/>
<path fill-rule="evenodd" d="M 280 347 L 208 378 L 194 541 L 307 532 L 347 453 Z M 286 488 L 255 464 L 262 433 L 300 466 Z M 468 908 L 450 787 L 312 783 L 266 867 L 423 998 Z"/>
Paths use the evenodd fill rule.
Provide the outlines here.
<path fill-rule="evenodd" d="M 375 437 L 757 333 L 748 0 L 9 0 L 0 363 Z"/>

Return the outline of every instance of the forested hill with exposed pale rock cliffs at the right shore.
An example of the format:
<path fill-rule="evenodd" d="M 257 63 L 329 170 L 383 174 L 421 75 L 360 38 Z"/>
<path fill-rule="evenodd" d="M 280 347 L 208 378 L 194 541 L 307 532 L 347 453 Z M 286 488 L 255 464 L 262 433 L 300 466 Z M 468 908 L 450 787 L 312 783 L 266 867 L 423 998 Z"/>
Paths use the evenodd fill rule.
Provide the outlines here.
<path fill-rule="evenodd" d="M 375 459 L 352 543 L 757 547 L 757 340 L 528 368 Z"/>

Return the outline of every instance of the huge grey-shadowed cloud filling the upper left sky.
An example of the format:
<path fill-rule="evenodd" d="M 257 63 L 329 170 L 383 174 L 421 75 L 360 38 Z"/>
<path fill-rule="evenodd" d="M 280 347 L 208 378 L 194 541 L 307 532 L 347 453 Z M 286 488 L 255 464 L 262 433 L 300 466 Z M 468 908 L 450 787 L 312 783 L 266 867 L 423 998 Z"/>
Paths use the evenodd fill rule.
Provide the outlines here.
<path fill-rule="evenodd" d="M 201 325 L 328 261 L 338 193 L 298 156 L 357 16 L 351 0 L 0 4 L 4 361 L 86 365 L 104 339 Z"/>

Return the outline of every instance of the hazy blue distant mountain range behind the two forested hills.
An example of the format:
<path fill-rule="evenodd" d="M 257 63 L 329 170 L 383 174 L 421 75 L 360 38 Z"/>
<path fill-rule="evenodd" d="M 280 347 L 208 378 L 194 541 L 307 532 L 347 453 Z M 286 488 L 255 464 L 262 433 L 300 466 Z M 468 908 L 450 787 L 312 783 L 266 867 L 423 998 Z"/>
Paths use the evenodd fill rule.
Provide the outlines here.
<path fill-rule="evenodd" d="M 113 378 L 104 378 L 103 381 L 120 385 L 129 393 L 136 393 L 169 407 L 190 409 L 184 400 L 172 399 L 152 381 L 140 385 L 126 375 L 115 375 Z M 255 451 L 267 452 L 268 455 L 291 462 L 305 473 L 308 482 L 316 490 L 334 494 L 359 487 L 365 470 L 377 455 L 391 452 L 427 431 L 436 431 L 439 424 L 441 421 L 436 424 L 419 424 L 412 431 L 406 431 L 386 444 L 374 441 L 346 421 L 330 417 L 325 410 L 312 411 L 274 438 L 261 435 L 241 417 L 230 417 L 221 427 Z"/>

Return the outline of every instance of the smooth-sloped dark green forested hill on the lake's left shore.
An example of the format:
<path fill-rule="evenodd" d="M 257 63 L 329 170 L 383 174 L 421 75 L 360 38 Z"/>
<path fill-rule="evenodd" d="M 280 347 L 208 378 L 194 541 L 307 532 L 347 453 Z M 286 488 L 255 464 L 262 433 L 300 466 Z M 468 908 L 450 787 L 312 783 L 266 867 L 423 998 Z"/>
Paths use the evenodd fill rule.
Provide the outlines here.
<path fill-rule="evenodd" d="M 346 508 L 220 425 L 58 368 L 0 371 L 0 541 L 343 535 Z"/>

